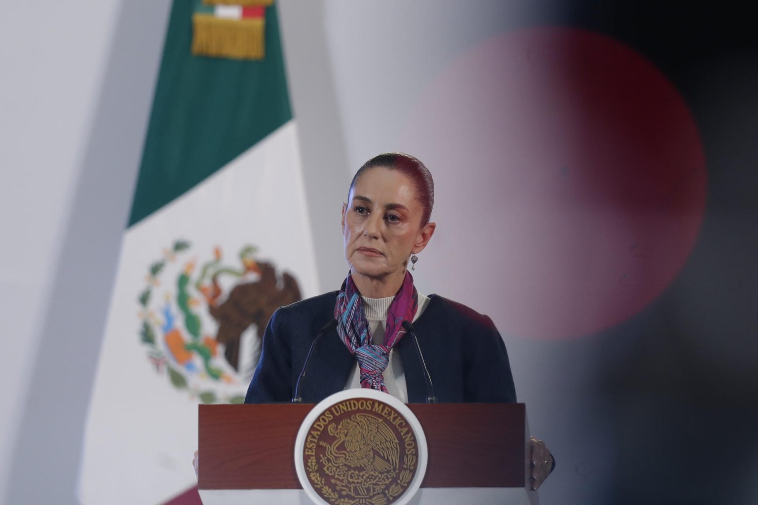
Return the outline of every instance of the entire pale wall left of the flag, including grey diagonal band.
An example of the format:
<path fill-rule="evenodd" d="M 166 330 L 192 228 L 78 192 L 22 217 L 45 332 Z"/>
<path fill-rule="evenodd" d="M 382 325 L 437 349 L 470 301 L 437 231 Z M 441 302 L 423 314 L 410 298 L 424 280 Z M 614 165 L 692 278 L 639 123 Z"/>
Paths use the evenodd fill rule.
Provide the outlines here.
<path fill-rule="evenodd" d="M 3 503 L 76 503 L 82 423 L 168 6 L 3 6 Z"/>

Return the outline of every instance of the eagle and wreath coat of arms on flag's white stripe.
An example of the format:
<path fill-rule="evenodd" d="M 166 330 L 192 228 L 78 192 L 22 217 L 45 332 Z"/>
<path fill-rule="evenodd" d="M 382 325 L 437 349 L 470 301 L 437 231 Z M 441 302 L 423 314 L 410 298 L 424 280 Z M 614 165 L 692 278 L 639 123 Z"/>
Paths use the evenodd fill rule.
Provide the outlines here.
<path fill-rule="evenodd" d="M 240 370 L 243 333 L 255 326 L 262 338 L 274 310 L 300 300 L 299 287 L 289 273 L 277 276 L 273 264 L 256 260 L 255 246 L 244 246 L 236 265 L 224 264 L 216 247 L 199 268 L 196 259 L 183 260 L 190 248 L 177 240 L 150 264 L 137 299 L 139 339 L 155 371 L 166 370 L 174 388 L 204 404 L 241 404 L 247 387 Z M 225 291 L 229 281 L 233 287 Z"/>

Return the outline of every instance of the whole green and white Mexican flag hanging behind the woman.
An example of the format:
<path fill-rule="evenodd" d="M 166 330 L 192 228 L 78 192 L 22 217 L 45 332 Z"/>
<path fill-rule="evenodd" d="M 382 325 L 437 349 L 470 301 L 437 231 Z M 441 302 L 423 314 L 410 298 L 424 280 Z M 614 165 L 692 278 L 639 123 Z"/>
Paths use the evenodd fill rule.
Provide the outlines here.
<path fill-rule="evenodd" d="M 81 503 L 166 503 L 193 488 L 197 405 L 241 403 L 268 317 L 318 292 L 277 11 L 259 3 L 174 2 L 89 404 Z M 226 40 L 218 48 L 256 32 L 211 21 L 216 32 L 199 34 L 199 17 L 262 28 L 257 53 L 203 55 L 193 37 Z"/>

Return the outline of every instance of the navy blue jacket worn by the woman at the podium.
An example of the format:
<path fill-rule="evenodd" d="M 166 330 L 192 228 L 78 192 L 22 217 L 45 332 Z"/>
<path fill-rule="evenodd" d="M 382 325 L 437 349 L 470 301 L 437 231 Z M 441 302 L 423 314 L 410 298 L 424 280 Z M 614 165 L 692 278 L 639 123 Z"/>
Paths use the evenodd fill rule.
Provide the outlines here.
<path fill-rule="evenodd" d="M 437 401 L 516 401 L 506 346 L 489 317 L 465 305 L 431 295 L 413 323 L 434 384 Z M 290 401 L 313 339 L 334 317 L 337 291 L 280 307 L 263 336 L 263 351 L 246 404 Z M 426 401 L 427 389 L 410 335 L 396 344 L 406 374 L 409 403 Z M 305 403 L 318 403 L 347 384 L 354 358 L 332 329 L 316 342 L 308 375 L 300 384 Z"/>

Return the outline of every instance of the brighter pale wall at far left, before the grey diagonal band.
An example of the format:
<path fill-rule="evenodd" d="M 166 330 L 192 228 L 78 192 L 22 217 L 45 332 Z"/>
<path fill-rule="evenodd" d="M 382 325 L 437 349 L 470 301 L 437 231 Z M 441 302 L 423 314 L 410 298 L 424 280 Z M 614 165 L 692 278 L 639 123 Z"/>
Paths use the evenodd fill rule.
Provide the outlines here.
<path fill-rule="evenodd" d="M 0 495 L 89 143 L 118 2 L 4 6 L 0 18 Z M 42 15 L 44 13 L 44 15 Z M 76 27 L 76 30 L 72 30 Z"/>

